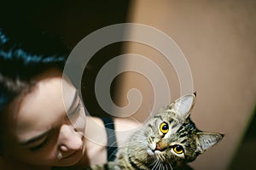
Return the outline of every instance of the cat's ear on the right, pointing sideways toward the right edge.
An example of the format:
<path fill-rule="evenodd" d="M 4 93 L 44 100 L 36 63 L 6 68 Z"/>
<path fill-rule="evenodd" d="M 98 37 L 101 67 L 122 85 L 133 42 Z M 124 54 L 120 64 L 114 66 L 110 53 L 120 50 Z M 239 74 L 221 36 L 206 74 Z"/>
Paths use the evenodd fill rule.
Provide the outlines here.
<path fill-rule="evenodd" d="M 196 133 L 197 152 L 203 153 L 223 139 L 224 134 L 221 133 Z"/>

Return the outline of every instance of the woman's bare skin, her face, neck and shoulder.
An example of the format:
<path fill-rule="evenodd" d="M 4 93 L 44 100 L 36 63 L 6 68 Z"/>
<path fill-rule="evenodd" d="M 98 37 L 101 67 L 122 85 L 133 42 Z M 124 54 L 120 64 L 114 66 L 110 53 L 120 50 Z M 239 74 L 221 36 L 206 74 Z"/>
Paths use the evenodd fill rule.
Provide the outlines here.
<path fill-rule="evenodd" d="M 0 169 L 52 166 L 83 167 L 107 161 L 107 134 L 102 121 L 85 116 L 73 84 L 61 71 L 49 70 L 35 78 L 36 85 L 20 95 L 2 118 L 3 156 Z M 63 95 L 62 88 L 65 88 Z M 114 119 L 118 144 L 139 126 L 128 119 Z"/>

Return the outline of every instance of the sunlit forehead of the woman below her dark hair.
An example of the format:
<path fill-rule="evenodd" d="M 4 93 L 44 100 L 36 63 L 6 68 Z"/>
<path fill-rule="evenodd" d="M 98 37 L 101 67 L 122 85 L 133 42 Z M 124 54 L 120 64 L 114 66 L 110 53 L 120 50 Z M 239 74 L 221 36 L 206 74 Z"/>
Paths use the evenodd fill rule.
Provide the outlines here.
<path fill-rule="evenodd" d="M 61 74 L 43 75 L 38 77 L 35 87 L 28 94 L 20 96 L 19 102 L 15 102 L 9 111 L 9 126 L 18 139 L 38 131 L 44 131 L 59 122 L 63 114 L 72 105 L 76 89 Z M 10 128 L 10 127 L 9 127 Z"/>

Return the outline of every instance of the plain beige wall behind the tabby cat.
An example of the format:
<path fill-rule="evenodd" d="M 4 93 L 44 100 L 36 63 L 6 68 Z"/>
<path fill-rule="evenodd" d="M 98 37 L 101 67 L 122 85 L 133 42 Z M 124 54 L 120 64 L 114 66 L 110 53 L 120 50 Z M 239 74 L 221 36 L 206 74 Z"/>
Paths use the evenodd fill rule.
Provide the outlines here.
<path fill-rule="evenodd" d="M 129 21 L 164 31 L 188 59 L 198 94 L 192 119 L 203 130 L 226 134 L 191 164 L 195 169 L 227 169 L 250 120 L 256 101 L 255 7 L 253 0 L 132 1 Z M 129 43 L 127 52 L 153 59 L 166 73 L 172 100 L 180 95 L 177 74 L 159 52 L 139 43 Z M 122 78 L 119 105 L 126 104 L 128 89 L 139 88 L 143 105 L 134 117 L 143 121 L 154 103 L 152 86 L 134 72 Z"/>

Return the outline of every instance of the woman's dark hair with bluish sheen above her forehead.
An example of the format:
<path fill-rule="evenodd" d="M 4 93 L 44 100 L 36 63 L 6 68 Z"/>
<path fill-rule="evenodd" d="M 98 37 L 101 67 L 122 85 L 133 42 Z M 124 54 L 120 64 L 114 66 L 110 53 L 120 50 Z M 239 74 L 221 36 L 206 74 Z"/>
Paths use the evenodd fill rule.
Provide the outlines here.
<path fill-rule="evenodd" d="M 60 44 L 43 31 L 25 35 L 0 28 L 0 114 L 32 86 L 33 77 L 51 67 L 63 69 L 68 50 Z"/>

